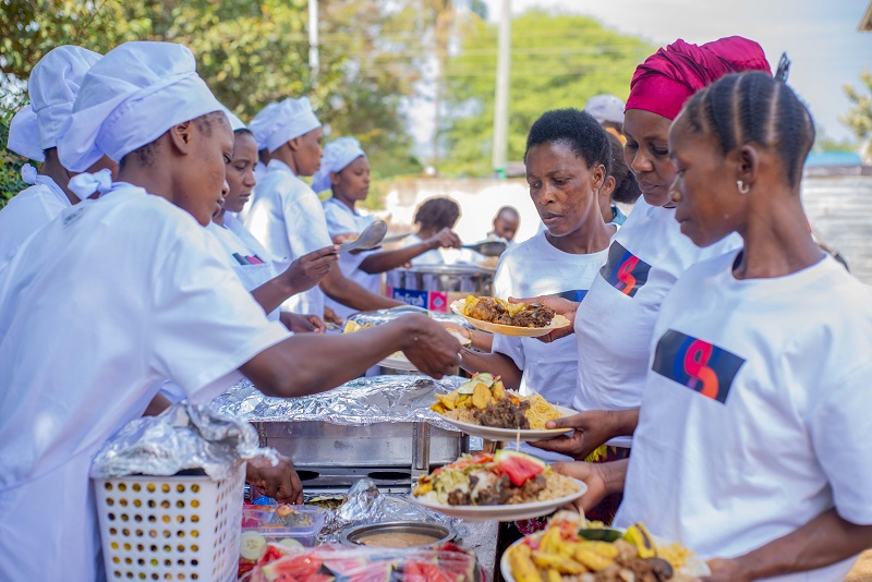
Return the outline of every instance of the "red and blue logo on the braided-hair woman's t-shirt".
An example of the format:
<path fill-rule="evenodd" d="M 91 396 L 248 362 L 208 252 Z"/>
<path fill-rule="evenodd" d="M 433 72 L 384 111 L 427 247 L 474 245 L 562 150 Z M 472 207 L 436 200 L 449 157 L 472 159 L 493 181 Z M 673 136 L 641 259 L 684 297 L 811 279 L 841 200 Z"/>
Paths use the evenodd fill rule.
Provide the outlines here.
<path fill-rule="evenodd" d="M 669 329 L 657 341 L 651 369 L 723 404 L 742 364 L 735 353 Z"/>

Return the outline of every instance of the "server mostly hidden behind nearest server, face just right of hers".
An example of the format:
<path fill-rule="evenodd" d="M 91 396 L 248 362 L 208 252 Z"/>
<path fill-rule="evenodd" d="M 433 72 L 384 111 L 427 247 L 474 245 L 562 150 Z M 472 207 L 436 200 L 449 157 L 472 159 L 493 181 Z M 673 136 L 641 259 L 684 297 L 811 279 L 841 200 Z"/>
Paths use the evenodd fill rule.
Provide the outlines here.
<path fill-rule="evenodd" d="M 276 272 L 266 248 L 233 214 L 245 207 L 252 189 L 257 184 L 254 178 L 257 143 L 237 116 L 229 109 L 225 113 L 233 130 L 233 157 L 227 165 L 228 191 L 223 206 L 206 230 L 223 247 L 222 258 L 264 307 L 269 319 L 281 320 L 291 331 L 324 331 L 324 323 L 317 316 L 280 312 L 278 306 L 290 295 L 318 284 L 336 260 L 336 248 L 319 248 L 291 263 L 281 275 Z"/>

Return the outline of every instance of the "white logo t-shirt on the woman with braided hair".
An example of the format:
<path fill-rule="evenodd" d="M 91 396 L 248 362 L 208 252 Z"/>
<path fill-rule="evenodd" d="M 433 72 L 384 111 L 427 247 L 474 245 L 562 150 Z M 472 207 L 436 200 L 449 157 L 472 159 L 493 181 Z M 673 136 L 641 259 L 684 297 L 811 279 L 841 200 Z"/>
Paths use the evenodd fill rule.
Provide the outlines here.
<path fill-rule="evenodd" d="M 872 288 L 828 256 L 737 280 L 735 257 L 691 267 L 663 302 L 615 520 L 703 559 L 834 506 L 872 524 Z M 777 580 L 840 581 L 851 561 Z"/>

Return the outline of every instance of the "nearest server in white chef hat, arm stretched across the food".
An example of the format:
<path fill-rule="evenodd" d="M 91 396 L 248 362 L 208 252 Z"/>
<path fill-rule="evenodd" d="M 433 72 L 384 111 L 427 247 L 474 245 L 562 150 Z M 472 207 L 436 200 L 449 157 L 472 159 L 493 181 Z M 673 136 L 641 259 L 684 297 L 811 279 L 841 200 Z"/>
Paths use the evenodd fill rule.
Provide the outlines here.
<path fill-rule="evenodd" d="M 202 228 L 233 150 L 220 109 L 181 45 L 121 45 L 82 82 L 61 162 L 105 153 L 119 175 L 32 238 L 0 284 L 0 580 L 100 578 L 90 460 L 160 378 L 202 402 L 240 373 L 292 397 L 397 350 L 435 376 L 457 363 L 425 316 L 305 338 L 266 318 Z"/>

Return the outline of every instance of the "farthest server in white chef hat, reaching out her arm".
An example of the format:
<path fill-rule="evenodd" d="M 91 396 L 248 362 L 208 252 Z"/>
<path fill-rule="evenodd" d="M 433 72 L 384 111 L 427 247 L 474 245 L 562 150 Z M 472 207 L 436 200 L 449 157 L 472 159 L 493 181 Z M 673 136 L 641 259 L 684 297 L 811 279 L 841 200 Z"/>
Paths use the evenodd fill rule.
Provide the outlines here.
<path fill-rule="evenodd" d="M 312 178 L 312 189 L 315 192 L 329 189 L 332 193 L 324 202 L 324 214 L 327 232 L 334 242 L 342 242 L 343 237 L 356 239 L 375 220 L 355 208 L 356 203 L 365 201 L 370 194 L 370 160 L 354 137 L 339 137 L 327 144 L 320 169 Z M 427 251 L 451 246 L 456 240 L 453 233 L 446 231 L 396 251 L 346 253 L 339 259 L 339 267 L 347 278 L 378 293 L 382 272 L 405 265 Z M 353 310 L 330 298 L 327 298 L 327 306 L 343 318 L 353 313 Z"/>

